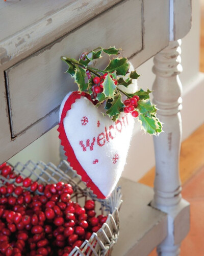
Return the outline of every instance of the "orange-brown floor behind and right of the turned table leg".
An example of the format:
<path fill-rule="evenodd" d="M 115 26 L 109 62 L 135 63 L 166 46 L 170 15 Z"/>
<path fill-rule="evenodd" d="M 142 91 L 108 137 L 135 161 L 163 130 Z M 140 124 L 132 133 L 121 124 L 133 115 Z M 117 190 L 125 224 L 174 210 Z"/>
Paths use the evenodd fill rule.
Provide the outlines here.
<path fill-rule="evenodd" d="M 200 71 L 204 72 L 204 0 L 201 1 L 200 22 Z M 155 169 L 152 168 L 141 180 L 154 185 Z M 182 196 L 191 204 L 191 224 L 188 236 L 181 245 L 180 256 L 204 255 L 204 124 L 182 143 L 180 176 Z M 157 256 L 156 249 L 149 256 Z"/>

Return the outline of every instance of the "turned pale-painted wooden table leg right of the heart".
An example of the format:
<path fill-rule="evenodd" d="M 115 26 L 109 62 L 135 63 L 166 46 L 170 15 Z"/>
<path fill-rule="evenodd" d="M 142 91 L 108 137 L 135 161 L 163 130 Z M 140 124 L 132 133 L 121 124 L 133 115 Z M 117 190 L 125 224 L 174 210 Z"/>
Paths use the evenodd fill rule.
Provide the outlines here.
<path fill-rule="evenodd" d="M 157 248 L 162 256 L 180 254 L 180 244 L 189 231 L 189 203 L 182 199 L 179 176 L 181 148 L 182 84 L 181 40 L 169 46 L 154 58 L 154 103 L 158 117 L 164 123 L 164 133 L 154 138 L 156 157 L 155 196 L 152 206 L 168 214 L 168 237 Z"/>

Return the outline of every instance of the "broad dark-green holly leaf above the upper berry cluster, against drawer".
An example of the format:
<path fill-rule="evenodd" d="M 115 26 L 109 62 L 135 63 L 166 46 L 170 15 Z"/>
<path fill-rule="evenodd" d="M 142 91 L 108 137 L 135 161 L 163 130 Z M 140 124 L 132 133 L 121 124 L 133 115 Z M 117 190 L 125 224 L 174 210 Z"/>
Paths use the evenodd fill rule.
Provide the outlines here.
<path fill-rule="evenodd" d="M 109 65 L 106 67 L 104 71 L 106 72 L 114 72 L 116 71 L 117 75 L 125 75 L 127 70 L 129 69 L 130 63 L 126 58 L 116 58 L 111 59 Z"/>

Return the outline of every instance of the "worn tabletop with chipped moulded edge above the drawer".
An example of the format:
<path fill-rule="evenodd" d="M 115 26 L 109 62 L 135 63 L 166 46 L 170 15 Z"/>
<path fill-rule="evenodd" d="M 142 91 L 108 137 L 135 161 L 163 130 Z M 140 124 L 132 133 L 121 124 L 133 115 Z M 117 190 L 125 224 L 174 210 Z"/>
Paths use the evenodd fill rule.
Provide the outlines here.
<path fill-rule="evenodd" d="M 14 65 L 120 1 L 1 1 L 0 66 Z"/>

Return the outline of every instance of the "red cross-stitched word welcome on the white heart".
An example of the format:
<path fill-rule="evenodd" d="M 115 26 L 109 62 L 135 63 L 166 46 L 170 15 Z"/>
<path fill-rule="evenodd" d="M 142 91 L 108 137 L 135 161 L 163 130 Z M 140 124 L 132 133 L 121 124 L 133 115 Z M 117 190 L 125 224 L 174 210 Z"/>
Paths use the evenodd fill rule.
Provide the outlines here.
<path fill-rule="evenodd" d="M 121 133 L 127 125 L 129 125 L 129 123 L 127 120 L 127 115 L 125 115 L 122 117 L 122 119 L 117 120 L 114 125 L 110 125 L 108 129 L 105 127 L 105 131 L 98 134 L 97 137 L 93 137 L 91 142 L 90 139 L 87 139 L 85 143 L 83 140 L 80 140 L 79 144 L 81 145 L 83 151 L 87 151 L 87 148 L 90 148 L 90 151 L 93 151 L 95 142 L 98 146 L 104 146 L 106 143 L 113 140 L 118 133 Z"/>

